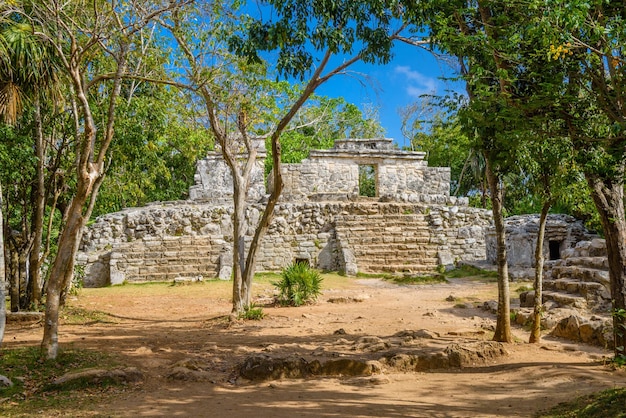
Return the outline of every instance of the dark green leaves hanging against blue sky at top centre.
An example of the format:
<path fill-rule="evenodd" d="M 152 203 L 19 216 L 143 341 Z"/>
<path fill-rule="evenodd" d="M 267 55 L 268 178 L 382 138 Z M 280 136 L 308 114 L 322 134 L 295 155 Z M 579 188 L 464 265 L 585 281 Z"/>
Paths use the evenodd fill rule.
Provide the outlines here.
<path fill-rule="evenodd" d="M 277 53 L 279 73 L 303 79 L 317 51 L 361 55 L 366 63 L 391 59 L 391 32 L 400 7 L 380 1 L 269 0 L 270 19 L 251 20 L 229 37 L 229 48 L 250 62 L 266 51 Z"/>

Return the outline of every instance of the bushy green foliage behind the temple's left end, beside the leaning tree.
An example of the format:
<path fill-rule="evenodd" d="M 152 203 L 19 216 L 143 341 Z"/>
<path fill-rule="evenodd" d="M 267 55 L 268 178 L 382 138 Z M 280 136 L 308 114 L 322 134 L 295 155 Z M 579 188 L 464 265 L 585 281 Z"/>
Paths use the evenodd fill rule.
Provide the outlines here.
<path fill-rule="evenodd" d="M 93 216 L 148 202 L 184 199 L 196 161 L 213 146 L 181 96 L 141 85 L 117 106 L 117 140 Z"/>

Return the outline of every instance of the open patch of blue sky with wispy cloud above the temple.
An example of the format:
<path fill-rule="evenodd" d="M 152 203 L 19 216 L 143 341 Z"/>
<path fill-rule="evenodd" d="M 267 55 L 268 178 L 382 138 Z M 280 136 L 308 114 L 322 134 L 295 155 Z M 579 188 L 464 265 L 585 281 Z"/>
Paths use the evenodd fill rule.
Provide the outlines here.
<path fill-rule="evenodd" d="M 398 110 L 416 100 L 422 94 L 445 94 L 446 90 L 461 91 L 459 82 L 443 80 L 453 71 L 448 63 L 437 60 L 431 53 L 407 44 L 394 48 L 394 59 L 386 65 L 357 63 L 351 67 L 354 73 L 365 77 L 339 75 L 320 86 L 317 94 L 344 97 L 361 109 L 374 106 L 378 109 L 386 137 L 393 138 L 400 146 L 407 145 L 401 133 L 401 117 Z"/>

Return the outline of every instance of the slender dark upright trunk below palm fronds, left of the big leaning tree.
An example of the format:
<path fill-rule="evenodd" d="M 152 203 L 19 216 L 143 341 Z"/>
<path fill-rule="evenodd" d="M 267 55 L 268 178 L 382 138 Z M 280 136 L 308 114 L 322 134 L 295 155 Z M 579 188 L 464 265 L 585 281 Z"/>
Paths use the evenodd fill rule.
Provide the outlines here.
<path fill-rule="evenodd" d="M 35 153 L 37 155 L 37 181 L 35 184 L 34 205 L 32 215 L 33 243 L 29 254 L 29 281 L 27 303 L 33 309 L 41 302 L 41 244 L 43 241 L 43 225 L 45 215 L 45 174 L 44 174 L 44 141 L 41 121 L 40 102 L 35 101 Z"/>

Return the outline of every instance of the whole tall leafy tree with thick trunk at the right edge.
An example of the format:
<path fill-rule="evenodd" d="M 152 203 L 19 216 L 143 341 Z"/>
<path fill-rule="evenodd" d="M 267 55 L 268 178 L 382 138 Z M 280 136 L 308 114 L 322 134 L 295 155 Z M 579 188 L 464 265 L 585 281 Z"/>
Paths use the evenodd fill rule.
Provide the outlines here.
<path fill-rule="evenodd" d="M 616 357 L 626 357 L 626 58 L 622 2 L 542 5 L 545 55 L 562 68 L 546 86 L 559 104 L 606 238 Z"/>

